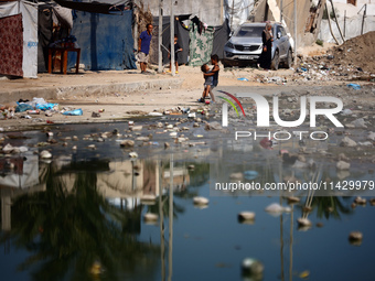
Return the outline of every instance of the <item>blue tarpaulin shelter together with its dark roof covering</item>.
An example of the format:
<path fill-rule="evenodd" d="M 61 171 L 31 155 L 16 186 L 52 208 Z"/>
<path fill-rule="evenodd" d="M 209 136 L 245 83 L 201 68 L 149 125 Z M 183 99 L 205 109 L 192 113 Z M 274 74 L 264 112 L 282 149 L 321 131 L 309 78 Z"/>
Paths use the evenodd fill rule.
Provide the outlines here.
<path fill-rule="evenodd" d="M 135 69 L 132 39 L 132 2 L 107 0 L 79 2 L 56 0 L 74 9 L 71 35 L 81 47 L 81 63 L 86 69 Z M 74 66 L 76 54 L 69 54 L 68 67 Z"/>

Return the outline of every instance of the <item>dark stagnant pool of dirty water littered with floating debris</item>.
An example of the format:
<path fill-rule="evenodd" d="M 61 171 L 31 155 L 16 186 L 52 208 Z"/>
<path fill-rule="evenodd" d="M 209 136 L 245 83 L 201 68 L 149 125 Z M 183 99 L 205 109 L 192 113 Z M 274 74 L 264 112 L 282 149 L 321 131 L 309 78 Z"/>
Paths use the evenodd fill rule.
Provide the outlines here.
<path fill-rule="evenodd" d="M 55 144 L 3 133 L 28 151 L 1 156 L 1 280 L 374 279 L 371 163 L 338 171 L 334 137 L 235 140 L 188 122 L 175 139 L 159 121 L 54 126 Z"/>

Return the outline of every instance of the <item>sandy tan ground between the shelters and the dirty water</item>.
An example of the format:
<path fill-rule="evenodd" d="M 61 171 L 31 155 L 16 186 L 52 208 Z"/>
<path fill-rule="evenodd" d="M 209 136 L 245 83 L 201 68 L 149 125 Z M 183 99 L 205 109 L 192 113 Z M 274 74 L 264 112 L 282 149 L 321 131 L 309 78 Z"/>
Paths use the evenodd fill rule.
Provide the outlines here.
<path fill-rule="evenodd" d="M 301 55 L 322 55 L 330 47 L 311 46 Z M 2 130 L 22 130 L 34 126 L 43 126 L 49 122 L 69 123 L 69 122 L 103 122 L 103 121 L 119 121 L 133 116 L 147 115 L 152 111 L 163 112 L 165 110 L 174 110 L 178 107 L 191 109 L 205 108 L 196 100 L 201 97 L 203 90 L 203 75 L 200 67 L 180 66 L 179 74 L 172 77 L 171 74 L 158 74 L 151 69 L 149 75 L 141 75 L 139 69 L 122 71 L 122 72 L 84 72 L 78 75 L 68 74 L 40 74 L 38 79 L 1 79 L 0 86 L 2 90 L 7 89 L 24 89 L 24 88 L 45 88 L 45 87 L 62 87 L 77 85 L 108 85 L 126 82 L 144 82 L 151 79 L 183 79 L 180 89 L 148 89 L 136 93 L 113 93 L 106 95 L 73 95 L 60 100 L 47 100 L 56 102 L 62 109 L 82 108 L 83 116 L 63 116 L 54 114 L 53 116 L 41 115 L 31 116 L 31 119 L 21 118 L 24 114 L 19 114 L 15 119 L 1 120 L 0 128 Z M 280 68 L 278 71 L 265 72 L 254 67 L 246 68 L 224 68 L 222 66 L 219 73 L 219 85 L 216 90 L 229 90 L 233 94 L 236 91 L 257 91 L 261 94 L 281 94 L 281 93 L 303 93 L 313 89 L 313 87 L 344 87 L 347 82 L 342 80 L 296 80 L 294 69 Z M 247 80 L 239 80 L 246 78 Z M 277 83 L 265 83 L 272 78 L 279 79 Z M 286 83 L 281 83 L 281 80 Z M 367 87 L 367 90 L 355 93 L 362 98 L 358 102 L 375 104 L 374 95 L 368 95 L 368 90 L 374 89 L 372 84 L 361 83 Z M 311 93 L 313 93 L 312 90 Z M 325 95 L 335 95 L 336 89 L 324 90 Z M 215 91 L 214 91 L 215 93 Z M 216 94 L 218 94 L 216 91 Z M 350 93 L 349 93 L 349 97 Z M 14 100 L 15 101 L 15 100 Z M 10 102 L 8 105 L 14 105 Z M 103 111 L 104 110 L 104 111 Z M 100 117 L 92 117 L 93 112 L 100 112 Z"/>

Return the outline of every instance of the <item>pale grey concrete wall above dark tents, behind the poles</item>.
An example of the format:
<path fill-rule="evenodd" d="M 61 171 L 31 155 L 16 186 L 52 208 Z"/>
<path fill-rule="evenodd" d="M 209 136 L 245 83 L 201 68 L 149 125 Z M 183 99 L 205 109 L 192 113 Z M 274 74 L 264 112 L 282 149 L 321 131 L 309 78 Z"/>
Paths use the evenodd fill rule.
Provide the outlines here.
<path fill-rule="evenodd" d="M 138 2 L 137 0 L 136 2 Z M 173 0 L 174 14 L 194 14 L 208 25 L 221 25 L 224 21 L 224 0 Z M 143 0 L 144 8 L 150 8 L 152 15 L 159 15 L 159 0 Z M 163 1 L 163 15 L 170 15 L 171 0 Z"/>

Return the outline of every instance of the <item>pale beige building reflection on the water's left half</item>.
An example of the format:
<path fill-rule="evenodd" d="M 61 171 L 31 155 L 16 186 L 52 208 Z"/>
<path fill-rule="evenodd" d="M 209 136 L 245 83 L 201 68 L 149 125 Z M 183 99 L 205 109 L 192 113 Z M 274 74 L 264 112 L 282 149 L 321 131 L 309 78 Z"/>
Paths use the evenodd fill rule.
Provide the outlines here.
<path fill-rule="evenodd" d="M 72 158 L 57 158 L 52 163 L 39 165 L 39 156 L 30 153 L 25 159 L 12 160 L 18 165 L 13 172 L 4 173 L 2 169 L 1 226 L 2 230 L 11 229 L 11 203 L 25 193 L 44 192 L 45 182 L 40 183 L 45 174 L 54 171 L 66 193 L 75 193 L 78 173 L 96 173 L 97 192 L 111 204 L 135 209 L 140 205 L 143 195 L 159 196 L 169 187 L 169 167 L 158 161 L 118 160 L 72 162 Z M 2 167 L 6 166 L 2 164 Z M 14 172 L 15 171 L 15 172 Z M 186 186 L 190 182 L 185 166 L 174 167 L 174 190 Z"/>

